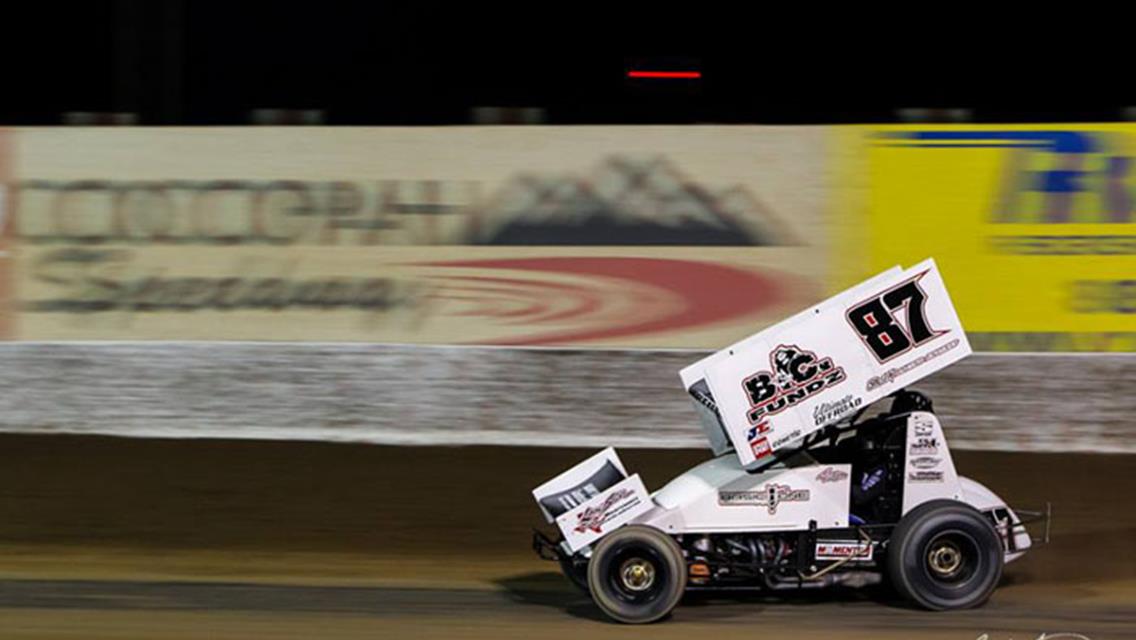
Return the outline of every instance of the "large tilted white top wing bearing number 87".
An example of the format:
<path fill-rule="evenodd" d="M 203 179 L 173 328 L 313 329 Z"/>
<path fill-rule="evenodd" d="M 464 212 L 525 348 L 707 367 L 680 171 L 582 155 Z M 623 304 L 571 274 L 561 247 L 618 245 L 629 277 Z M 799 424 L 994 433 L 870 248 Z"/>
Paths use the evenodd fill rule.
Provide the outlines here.
<path fill-rule="evenodd" d="M 932 259 L 893 267 L 682 371 L 745 466 L 970 355 Z M 722 435 L 721 432 L 725 432 Z"/>

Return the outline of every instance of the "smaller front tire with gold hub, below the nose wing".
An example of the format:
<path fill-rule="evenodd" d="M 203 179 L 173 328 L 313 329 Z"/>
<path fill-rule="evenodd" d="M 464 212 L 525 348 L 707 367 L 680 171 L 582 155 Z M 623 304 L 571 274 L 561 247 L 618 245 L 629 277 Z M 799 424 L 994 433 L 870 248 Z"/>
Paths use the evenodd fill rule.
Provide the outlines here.
<path fill-rule="evenodd" d="M 673 538 L 630 525 L 596 545 L 587 565 L 592 599 L 611 618 L 654 622 L 671 612 L 686 590 L 686 560 Z"/>

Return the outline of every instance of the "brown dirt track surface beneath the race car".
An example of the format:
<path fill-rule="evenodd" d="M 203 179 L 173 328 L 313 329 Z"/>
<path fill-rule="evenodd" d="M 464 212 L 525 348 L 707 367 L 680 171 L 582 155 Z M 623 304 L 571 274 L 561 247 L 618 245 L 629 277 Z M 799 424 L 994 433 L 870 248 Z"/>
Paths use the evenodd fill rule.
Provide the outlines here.
<path fill-rule="evenodd" d="M 0 638 L 1136 638 L 1136 457 L 957 454 L 1054 508 L 983 608 L 703 596 L 644 629 L 528 550 L 528 491 L 587 452 L 3 435 Z M 623 457 L 658 488 L 705 454 Z"/>

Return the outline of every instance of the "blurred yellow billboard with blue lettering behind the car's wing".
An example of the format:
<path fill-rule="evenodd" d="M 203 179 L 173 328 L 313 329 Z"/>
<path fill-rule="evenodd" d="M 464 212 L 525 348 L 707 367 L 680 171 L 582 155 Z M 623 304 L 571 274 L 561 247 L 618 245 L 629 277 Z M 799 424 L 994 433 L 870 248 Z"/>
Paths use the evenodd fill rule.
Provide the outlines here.
<path fill-rule="evenodd" d="M 834 286 L 934 256 L 976 350 L 1136 350 L 1136 125 L 836 135 Z"/>

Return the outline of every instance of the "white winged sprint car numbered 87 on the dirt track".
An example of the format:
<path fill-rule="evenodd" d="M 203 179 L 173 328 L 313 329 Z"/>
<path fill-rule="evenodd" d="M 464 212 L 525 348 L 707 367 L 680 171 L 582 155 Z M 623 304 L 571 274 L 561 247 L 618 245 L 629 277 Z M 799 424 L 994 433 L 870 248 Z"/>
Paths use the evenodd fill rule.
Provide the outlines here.
<path fill-rule="evenodd" d="M 533 491 L 559 529 L 534 549 L 625 623 L 687 590 L 880 579 L 928 609 L 979 605 L 1049 509 L 958 475 L 903 389 L 969 352 L 934 261 L 885 272 L 684 369 L 716 457 L 648 494 L 600 451 Z"/>

